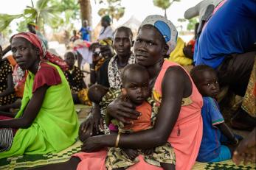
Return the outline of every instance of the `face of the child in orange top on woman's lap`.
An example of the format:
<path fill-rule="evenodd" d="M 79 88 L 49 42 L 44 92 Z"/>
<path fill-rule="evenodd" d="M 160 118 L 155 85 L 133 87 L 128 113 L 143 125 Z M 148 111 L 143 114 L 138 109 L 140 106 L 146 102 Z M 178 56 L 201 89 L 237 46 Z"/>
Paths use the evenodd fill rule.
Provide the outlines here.
<path fill-rule="evenodd" d="M 148 98 L 149 76 L 139 72 L 130 75 L 124 81 L 126 94 L 135 105 L 141 105 Z"/>

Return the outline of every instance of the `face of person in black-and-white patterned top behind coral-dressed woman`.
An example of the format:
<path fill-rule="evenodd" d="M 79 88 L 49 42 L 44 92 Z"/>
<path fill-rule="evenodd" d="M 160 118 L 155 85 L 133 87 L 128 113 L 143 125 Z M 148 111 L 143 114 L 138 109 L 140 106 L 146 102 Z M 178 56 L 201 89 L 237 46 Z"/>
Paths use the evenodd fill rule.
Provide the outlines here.
<path fill-rule="evenodd" d="M 114 41 L 113 46 L 115 52 L 117 52 L 117 55 L 122 57 L 126 57 L 130 55 L 131 52 L 131 36 L 128 34 L 128 32 L 125 31 L 118 31 L 114 35 Z"/>

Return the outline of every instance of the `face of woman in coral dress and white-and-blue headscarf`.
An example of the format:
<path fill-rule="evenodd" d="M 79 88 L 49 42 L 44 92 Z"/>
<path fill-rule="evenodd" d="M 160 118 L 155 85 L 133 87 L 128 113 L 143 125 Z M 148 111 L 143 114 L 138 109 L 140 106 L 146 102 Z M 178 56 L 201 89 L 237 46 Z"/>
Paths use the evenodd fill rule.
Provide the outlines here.
<path fill-rule="evenodd" d="M 142 26 L 134 43 L 134 54 L 139 65 L 154 65 L 162 60 L 167 49 L 161 36 L 153 27 Z"/>

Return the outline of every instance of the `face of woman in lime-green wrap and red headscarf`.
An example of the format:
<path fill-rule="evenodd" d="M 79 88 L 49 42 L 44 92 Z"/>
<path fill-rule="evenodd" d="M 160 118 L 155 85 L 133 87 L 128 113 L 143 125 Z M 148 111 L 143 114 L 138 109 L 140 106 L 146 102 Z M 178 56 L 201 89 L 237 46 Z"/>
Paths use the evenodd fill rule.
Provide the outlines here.
<path fill-rule="evenodd" d="M 30 41 L 24 38 L 14 38 L 11 43 L 11 50 L 18 66 L 22 70 L 29 70 L 39 60 L 38 51 Z"/>

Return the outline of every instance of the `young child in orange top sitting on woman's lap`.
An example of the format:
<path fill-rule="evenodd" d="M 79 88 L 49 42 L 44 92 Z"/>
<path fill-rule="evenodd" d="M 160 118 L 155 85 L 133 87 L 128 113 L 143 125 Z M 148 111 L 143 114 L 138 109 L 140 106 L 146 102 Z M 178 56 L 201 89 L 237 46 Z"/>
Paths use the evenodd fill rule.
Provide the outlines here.
<path fill-rule="evenodd" d="M 154 113 L 152 113 L 151 104 L 147 101 L 149 96 L 148 71 L 138 64 L 128 65 L 122 72 L 122 84 L 122 98 L 136 105 L 136 110 L 141 113 L 141 116 L 132 124 L 121 124 L 120 121 L 112 120 L 109 129 L 112 132 L 116 131 L 114 124 L 118 126 L 119 133 L 150 129 L 153 126 L 151 120 Z M 109 148 L 105 166 L 107 169 L 126 169 L 139 161 L 136 158 L 139 152 L 145 155 L 145 160 L 154 166 L 162 166 L 163 169 L 175 169 L 175 154 L 169 143 L 155 149 L 141 151 L 117 147 Z"/>

